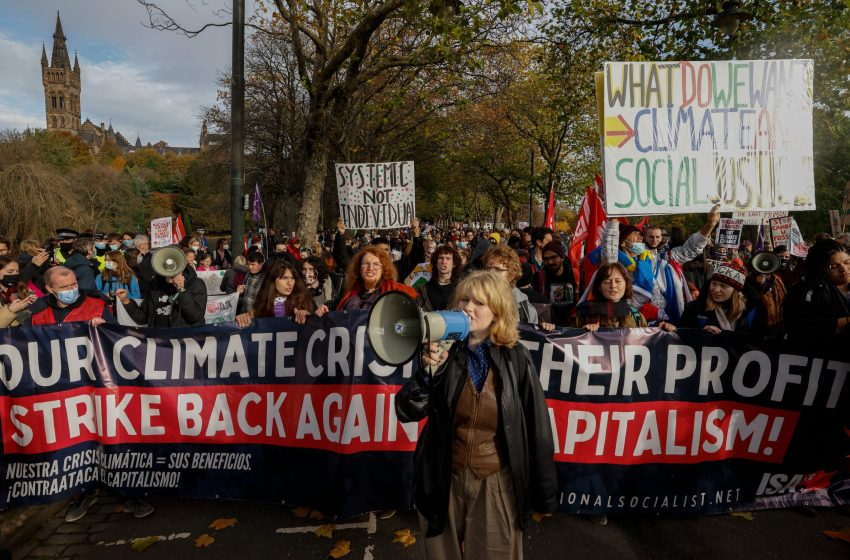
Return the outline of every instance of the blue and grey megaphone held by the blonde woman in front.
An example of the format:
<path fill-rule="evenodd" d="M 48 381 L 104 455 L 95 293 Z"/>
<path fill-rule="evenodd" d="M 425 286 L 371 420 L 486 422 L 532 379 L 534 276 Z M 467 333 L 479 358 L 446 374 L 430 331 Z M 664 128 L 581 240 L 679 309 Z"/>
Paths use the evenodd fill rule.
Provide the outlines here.
<path fill-rule="evenodd" d="M 462 311 L 423 312 L 407 294 L 387 292 L 369 311 L 366 336 L 381 362 L 400 366 L 412 360 L 422 344 L 465 339 L 469 317 Z"/>

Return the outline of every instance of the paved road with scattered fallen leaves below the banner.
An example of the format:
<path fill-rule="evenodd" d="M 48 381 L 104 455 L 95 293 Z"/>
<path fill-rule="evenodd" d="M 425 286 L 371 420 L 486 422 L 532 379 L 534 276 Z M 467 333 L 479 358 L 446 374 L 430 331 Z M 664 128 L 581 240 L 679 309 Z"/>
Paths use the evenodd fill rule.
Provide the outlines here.
<path fill-rule="evenodd" d="M 154 499 L 151 503 L 156 513 L 135 519 L 122 512 L 114 498 L 101 496 L 90 513 L 75 523 L 65 523 L 59 516 L 48 521 L 15 551 L 14 558 L 323 559 L 339 540 L 351 542 L 351 553 L 345 557 L 350 560 L 425 558 L 420 542 L 408 548 L 392 542 L 395 531 L 401 529 L 421 538 L 412 512 L 387 520 L 364 515 L 339 521 L 328 539 L 313 530 L 331 520 L 299 518 L 291 507 L 202 500 Z M 216 519 L 230 518 L 236 518 L 235 526 L 220 531 L 209 528 Z M 752 520 L 731 515 L 621 517 L 612 518 L 607 527 L 557 514 L 533 523 L 525 550 L 529 559 L 848 560 L 850 544 L 823 534 L 845 527 L 850 527 L 850 517 L 835 509 L 819 509 L 814 517 L 790 510 L 755 512 Z M 196 548 L 195 540 L 204 534 L 215 541 L 207 548 Z M 165 540 L 141 553 L 132 550 L 132 539 L 150 536 Z"/>

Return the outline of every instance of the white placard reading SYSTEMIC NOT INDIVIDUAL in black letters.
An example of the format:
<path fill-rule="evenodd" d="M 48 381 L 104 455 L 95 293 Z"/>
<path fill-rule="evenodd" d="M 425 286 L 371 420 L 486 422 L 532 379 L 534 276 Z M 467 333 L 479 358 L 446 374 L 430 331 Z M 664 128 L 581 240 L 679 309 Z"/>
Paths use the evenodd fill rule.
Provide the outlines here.
<path fill-rule="evenodd" d="M 412 161 L 338 163 L 339 215 L 353 229 L 395 229 L 416 215 Z"/>

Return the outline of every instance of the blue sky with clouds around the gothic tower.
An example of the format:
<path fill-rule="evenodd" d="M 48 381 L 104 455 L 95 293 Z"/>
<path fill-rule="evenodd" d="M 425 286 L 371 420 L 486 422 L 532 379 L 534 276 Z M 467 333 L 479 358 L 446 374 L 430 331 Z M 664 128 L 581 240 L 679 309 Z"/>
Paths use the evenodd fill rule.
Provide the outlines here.
<path fill-rule="evenodd" d="M 254 2 L 246 2 L 250 15 Z M 230 0 L 163 0 L 187 27 L 227 21 Z M 82 73 L 82 118 L 112 121 L 131 142 L 197 146 L 200 113 L 230 68 L 230 27 L 188 39 L 144 27 L 135 0 L 0 0 L 0 130 L 45 126 L 41 46 L 50 58 L 56 12 Z"/>

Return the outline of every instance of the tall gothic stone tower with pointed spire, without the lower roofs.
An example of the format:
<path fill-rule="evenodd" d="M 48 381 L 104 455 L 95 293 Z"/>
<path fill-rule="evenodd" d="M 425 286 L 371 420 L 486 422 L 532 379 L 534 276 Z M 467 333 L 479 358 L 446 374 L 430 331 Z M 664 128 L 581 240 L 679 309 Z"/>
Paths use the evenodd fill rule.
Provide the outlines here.
<path fill-rule="evenodd" d="M 74 67 L 71 68 L 59 12 L 56 13 L 50 64 L 47 63 L 47 51 L 43 45 L 41 47 L 41 81 L 44 84 L 47 129 L 76 134 L 80 130 L 80 62 L 75 54 Z"/>

